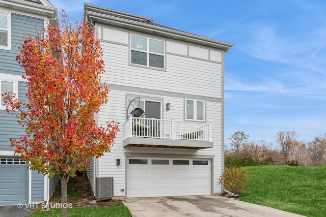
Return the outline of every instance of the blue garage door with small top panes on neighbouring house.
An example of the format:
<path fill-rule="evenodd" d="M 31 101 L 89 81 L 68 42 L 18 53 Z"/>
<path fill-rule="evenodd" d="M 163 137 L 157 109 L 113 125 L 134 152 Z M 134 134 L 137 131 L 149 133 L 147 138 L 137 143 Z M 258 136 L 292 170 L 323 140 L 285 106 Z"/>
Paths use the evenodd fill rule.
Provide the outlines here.
<path fill-rule="evenodd" d="M 0 205 L 28 203 L 28 180 L 26 162 L 0 157 Z"/>

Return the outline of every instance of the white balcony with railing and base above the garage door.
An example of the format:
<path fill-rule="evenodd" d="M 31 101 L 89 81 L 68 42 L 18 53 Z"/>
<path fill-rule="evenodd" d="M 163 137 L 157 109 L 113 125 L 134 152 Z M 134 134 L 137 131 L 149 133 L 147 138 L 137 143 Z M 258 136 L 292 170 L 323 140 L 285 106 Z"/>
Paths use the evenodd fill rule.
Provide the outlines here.
<path fill-rule="evenodd" d="M 129 116 L 123 146 L 203 149 L 213 147 L 211 123 Z"/>

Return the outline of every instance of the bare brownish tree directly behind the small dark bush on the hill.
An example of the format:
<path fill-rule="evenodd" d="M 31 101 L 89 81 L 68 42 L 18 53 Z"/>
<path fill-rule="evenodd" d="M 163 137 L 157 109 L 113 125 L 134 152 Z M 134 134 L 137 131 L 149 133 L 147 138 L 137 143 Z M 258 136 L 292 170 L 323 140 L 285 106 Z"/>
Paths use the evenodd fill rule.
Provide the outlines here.
<path fill-rule="evenodd" d="M 297 134 L 295 131 L 280 131 L 277 133 L 276 142 L 281 147 L 281 152 L 284 156 L 285 162 L 289 159 L 293 145 L 295 145 Z"/>

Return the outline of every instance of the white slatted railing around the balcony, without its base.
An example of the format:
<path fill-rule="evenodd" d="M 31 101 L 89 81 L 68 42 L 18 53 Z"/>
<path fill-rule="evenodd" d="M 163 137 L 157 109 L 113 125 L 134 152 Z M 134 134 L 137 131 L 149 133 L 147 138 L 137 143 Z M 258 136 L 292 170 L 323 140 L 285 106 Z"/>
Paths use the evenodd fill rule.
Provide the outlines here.
<path fill-rule="evenodd" d="M 129 116 L 124 123 L 125 139 L 144 137 L 211 142 L 211 123 L 197 123 Z"/>

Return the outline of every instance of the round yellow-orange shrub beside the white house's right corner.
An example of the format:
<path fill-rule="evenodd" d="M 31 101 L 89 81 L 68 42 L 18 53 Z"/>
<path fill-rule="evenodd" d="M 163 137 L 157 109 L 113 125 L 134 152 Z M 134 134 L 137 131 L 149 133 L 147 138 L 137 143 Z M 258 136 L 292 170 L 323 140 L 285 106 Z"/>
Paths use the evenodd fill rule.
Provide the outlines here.
<path fill-rule="evenodd" d="M 227 168 L 219 180 L 224 189 L 234 194 L 239 194 L 249 184 L 246 171 L 236 166 Z"/>

